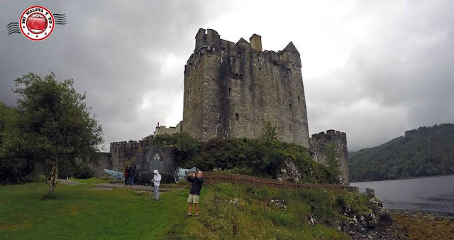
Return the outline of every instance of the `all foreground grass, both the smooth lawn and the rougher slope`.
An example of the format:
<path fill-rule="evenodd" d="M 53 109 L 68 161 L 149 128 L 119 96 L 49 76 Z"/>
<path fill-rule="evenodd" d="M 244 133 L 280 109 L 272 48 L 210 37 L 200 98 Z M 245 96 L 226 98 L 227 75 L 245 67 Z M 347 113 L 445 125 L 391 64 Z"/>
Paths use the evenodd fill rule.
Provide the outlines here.
<path fill-rule="evenodd" d="M 203 187 L 200 216 L 187 218 L 187 189 L 155 202 L 148 192 L 91 187 L 58 185 L 57 200 L 42 200 L 45 183 L 0 186 L 0 239 L 349 239 L 327 226 L 345 219 L 345 204 L 367 211 L 367 197 L 349 192 L 220 184 Z M 276 199 L 287 209 L 267 205 Z"/>

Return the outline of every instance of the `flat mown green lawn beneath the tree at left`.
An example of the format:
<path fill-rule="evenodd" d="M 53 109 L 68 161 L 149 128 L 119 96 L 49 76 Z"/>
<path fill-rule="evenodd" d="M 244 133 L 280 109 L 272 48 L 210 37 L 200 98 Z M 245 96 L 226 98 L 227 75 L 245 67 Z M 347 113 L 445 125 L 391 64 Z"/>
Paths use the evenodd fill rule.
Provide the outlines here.
<path fill-rule="evenodd" d="M 0 186 L 0 239 L 180 239 L 188 190 L 148 192 L 89 190 L 57 185 L 56 200 L 43 200 L 45 183 Z"/>

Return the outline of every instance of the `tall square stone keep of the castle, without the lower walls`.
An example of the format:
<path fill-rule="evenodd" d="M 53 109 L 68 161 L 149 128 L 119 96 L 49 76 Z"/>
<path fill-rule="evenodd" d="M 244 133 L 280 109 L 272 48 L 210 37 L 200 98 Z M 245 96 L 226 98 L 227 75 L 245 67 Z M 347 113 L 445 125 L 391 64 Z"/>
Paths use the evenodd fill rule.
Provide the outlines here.
<path fill-rule="evenodd" d="M 292 42 L 276 53 L 262 50 L 256 34 L 232 43 L 199 29 L 184 66 L 183 106 L 181 129 L 198 140 L 258 138 L 270 121 L 280 140 L 309 148 L 301 58 Z"/>

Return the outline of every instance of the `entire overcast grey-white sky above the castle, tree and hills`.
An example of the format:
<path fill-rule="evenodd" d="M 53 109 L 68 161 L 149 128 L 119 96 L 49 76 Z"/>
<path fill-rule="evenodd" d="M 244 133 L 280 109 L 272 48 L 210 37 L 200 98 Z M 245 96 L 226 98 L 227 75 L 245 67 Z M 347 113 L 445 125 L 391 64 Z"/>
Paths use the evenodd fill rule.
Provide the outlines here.
<path fill-rule="evenodd" d="M 7 35 L 41 5 L 66 13 L 46 40 Z M 349 151 L 454 122 L 454 1 L 2 1 L 0 102 L 28 72 L 72 77 L 112 141 L 182 120 L 183 70 L 199 28 L 233 42 L 290 41 L 302 58 L 309 133 L 347 133 Z"/>

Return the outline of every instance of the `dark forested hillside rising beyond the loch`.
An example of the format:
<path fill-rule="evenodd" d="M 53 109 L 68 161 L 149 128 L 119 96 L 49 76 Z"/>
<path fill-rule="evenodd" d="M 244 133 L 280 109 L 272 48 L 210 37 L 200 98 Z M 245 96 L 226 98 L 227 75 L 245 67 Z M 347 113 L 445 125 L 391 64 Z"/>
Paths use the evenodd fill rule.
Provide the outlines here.
<path fill-rule="evenodd" d="M 454 174 L 454 124 L 421 126 L 350 156 L 350 182 Z"/>

